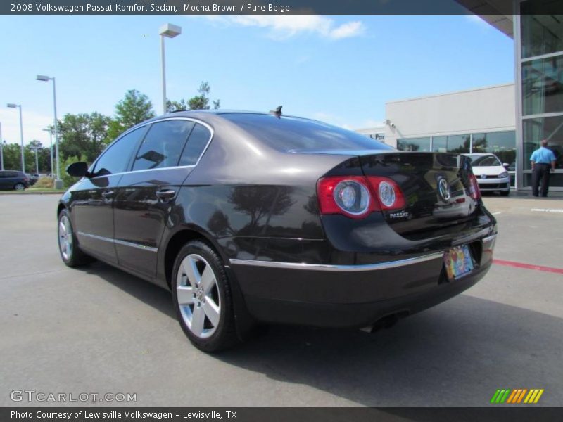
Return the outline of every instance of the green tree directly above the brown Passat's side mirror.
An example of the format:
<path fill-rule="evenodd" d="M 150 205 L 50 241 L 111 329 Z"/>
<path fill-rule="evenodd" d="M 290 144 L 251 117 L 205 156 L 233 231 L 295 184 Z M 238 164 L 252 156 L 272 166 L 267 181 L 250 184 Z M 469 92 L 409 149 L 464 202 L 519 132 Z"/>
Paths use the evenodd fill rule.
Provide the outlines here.
<path fill-rule="evenodd" d="M 61 158 L 65 160 L 84 154 L 87 161 L 94 161 L 103 148 L 106 148 L 110 122 L 110 117 L 96 112 L 65 115 L 58 123 Z"/>

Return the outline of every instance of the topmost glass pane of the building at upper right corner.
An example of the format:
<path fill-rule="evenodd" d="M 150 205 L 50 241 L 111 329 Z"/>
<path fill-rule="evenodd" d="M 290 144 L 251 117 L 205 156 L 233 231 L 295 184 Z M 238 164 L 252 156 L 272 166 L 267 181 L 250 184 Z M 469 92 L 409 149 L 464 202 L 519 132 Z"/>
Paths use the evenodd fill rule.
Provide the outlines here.
<path fill-rule="evenodd" d="M 522 58 L 563 51 L 563 16 L 556 14 L 557 1 L 552 4 L 554 10 L 549 11 L 549 4 L 521 3 Z M 538 6 L 541 10 L 534 10 Z"/>

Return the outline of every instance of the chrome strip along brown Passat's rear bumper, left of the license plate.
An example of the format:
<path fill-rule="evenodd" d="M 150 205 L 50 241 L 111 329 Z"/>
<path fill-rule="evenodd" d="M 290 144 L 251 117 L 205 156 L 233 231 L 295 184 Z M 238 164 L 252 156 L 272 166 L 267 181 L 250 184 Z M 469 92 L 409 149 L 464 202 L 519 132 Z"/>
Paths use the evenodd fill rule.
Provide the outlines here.
<path fill-rule="evenodd" d="M 302 262 L 275 262 L 275 261 L 255 261 L 255 260 L 229 260 L 231 264 L 238 265 L 251 265 L 253 267 L 270 267 L 282 269 L 306 269 L 314 271 L 377 271 L 379 269 L 389 269 L 404 267 L 405 265 L 418 264 L 419 262 L 426 262 L 442 258 L 444 252 L 435 252 L 430 255 L 422 255 L 422 257 L 407 258 L 406 260 L 380 262 L 377 264 L 362 264 L 362 265 L 331 265 L 331 264 L 305 264 Z"/>

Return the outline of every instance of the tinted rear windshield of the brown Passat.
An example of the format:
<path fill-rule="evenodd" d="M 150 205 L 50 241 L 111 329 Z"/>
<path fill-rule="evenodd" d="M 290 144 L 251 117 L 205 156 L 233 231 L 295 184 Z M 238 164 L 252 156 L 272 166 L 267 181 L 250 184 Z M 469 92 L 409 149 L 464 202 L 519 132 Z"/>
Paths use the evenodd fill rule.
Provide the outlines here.
<path fill-rule="evenodd" d="M 394 149 L 367 136 L 315 120 L 242 113 L 222 117 L 278 151 Z"/>

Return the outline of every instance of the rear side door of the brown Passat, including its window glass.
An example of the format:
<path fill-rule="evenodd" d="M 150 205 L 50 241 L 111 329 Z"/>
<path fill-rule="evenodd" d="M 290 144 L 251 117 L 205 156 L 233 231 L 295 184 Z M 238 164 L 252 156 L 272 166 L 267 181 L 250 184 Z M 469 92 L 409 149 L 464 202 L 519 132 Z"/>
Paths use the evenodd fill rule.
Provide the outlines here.
<path fill-rule="evenodd" d="M 120 266 L 155 276 L 170 210 L 211 134 L 210 127 L 186 118 L 160 120 L 148 129 L 132 171 L 123 175 L 115 198 L 115 248 Z"/>

